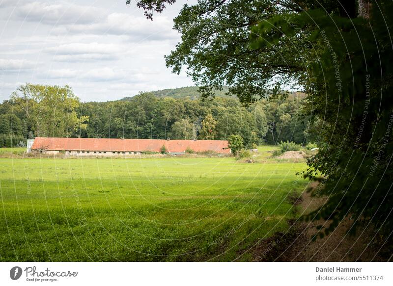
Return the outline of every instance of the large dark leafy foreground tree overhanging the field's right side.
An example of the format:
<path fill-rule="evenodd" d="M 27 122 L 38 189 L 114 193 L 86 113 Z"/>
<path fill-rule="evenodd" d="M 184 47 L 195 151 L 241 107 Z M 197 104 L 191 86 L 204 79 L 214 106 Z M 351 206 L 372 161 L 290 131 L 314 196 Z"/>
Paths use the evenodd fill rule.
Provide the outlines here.
<path fill-rule="evenodd" d="M 148 19 L 174 0 L 140 0 Z M 393 231 L 391 0 L 198 0 L 174 19 L 181 41 L 166 57 L 205 96 L 223 85 L 245 103 L 300 86 L 321 146 L 305 175 L 323 176 L 327 203 L 307 218 L 344 217 Z M 154 19 L 153 19 L 154 21 Z M 309 130 L 311 131 L 311 130 Z M 392 244 L 390 244 L 392 245 Z"/>

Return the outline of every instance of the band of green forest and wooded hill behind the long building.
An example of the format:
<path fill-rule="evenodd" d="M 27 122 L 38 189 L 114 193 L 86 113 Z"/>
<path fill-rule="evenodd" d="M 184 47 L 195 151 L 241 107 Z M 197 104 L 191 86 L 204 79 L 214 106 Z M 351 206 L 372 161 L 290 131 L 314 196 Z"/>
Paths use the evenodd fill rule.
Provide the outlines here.
<path fill-rule="evenodd" d="M 224 87 L 203 99 L 197 87 L 184 87 L 82 103 L 69 86 L 25 84 L 0 104 L 0 145 L 35 136 L 226 140 L 234 134 L 248 148 L 312 139 L 302 113 L 303 93 L 247 105 L 226 94 Z"/>

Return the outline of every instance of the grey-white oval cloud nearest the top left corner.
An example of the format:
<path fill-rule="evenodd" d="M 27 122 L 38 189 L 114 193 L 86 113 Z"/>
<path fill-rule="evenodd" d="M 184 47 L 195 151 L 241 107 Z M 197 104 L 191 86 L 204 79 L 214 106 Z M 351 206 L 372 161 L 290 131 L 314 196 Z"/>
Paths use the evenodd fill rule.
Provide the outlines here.
<path fill-rule="evenodd" d="M 60 1 L 56 3 L 34 1 L 20 5 L 17 16 L 29 22 L 44 24 L 82 24 L 99 21 L 102 9 Z"/>

